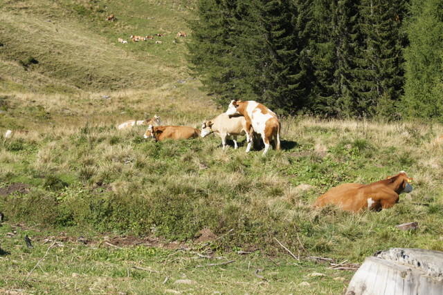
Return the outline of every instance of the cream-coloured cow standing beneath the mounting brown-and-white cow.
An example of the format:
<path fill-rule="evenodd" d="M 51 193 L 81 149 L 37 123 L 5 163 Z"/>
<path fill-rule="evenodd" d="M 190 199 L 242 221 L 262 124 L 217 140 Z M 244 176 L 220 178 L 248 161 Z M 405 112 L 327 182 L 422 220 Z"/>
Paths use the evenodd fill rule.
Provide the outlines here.
<path fill-rule="evenodd" d="M 249 142 L 249 133 L 246 127 L 246 119 L 243 116 L 229 117 L 222 113 L 213 120 L 206 121 L 201 125 L 201 137 L 206 137 L 210 133 L 215 133 L 221 137 L 221 145 L 226 148 L 226 137 L 232 136 L 234 149 L 237 149 L 237 135 L 246 135 L 246 142 Z"/>

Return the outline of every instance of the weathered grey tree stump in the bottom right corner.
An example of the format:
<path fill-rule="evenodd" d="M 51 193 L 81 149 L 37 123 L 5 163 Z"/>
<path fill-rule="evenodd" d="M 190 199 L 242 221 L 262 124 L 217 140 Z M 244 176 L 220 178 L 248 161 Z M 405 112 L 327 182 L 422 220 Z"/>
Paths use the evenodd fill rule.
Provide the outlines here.
<path fill-rule="evenodd" d="M 443 252 L 392 248 L 365 259 L 346 295 L 442 295 Z"/>

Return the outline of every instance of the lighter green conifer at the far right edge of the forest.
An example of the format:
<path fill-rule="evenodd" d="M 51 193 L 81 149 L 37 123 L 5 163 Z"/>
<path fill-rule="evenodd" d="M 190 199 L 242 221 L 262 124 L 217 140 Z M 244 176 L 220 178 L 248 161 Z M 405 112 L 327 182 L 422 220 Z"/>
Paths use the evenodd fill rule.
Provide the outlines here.
<path fill-rule="evenodd" d="M 407 25 L 406 85 L 402 98 L 410 117 L 440 117 L 443 113 L 443 2 L 413 0 Z"/>

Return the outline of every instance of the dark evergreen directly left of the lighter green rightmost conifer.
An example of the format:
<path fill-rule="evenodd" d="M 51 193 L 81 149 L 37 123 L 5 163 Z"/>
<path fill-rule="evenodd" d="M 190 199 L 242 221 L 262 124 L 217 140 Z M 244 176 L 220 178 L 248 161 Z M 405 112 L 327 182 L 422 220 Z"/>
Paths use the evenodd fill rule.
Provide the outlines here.
<path fill-rule="evenodd" d="M 363 44 L 356 51 L 357 115 L 392 115 L 404 85 L 404 1 L 361 0 Z"/>

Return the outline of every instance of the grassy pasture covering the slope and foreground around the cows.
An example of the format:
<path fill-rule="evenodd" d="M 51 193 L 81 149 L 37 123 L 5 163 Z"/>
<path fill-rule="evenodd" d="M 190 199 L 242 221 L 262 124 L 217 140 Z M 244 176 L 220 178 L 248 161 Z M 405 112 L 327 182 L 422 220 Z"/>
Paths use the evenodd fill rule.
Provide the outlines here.
<path fill-rule="evenodd" d="M 302 281 L 311 283 L 312 294 L 336 294 L 344 283 L 332 278 L 352 273 L 307 256 L 360 263 L 389 247 L 443 250 L 441 125 L 289 117 L 282 120 L 282 151 L 266 157 L 246 155 L 244 142 L 222 151 L 215 136 L 155 143 L 143 138 L 143 126 L 116 130 L 119 122 L 154 114 L 166 124 L 199 126 L 226 108 L 215 106 L 187 73 L 187 40 L 175 34 L 186 30 L 191 11 L 185 1 L 0 3 L 0 211 L 6 215 L 0 270 L 13 272 L 0 278 L 0 288 L 165 292 L 177 289 L 172 278 L 184 276 L 197 283 L 181 291 L 196 294 L 300 293 Z M 105 21 L 110 13 L 118 20 Z M 116 41 L 156 32 L 166 34 L 163 44 Z M 11 138 L 3 137 L 6 129 Z M 415 190 L 392 209 L 352 214 L 312 207 L 330 187 L 401 170 L 414 178 Z M 411 221 L 419 229 L 395 227 Z M 213 239 L 198 242 L 202 229 Z M 24 234 L 35 249 L 24 248 Z M 49 249 L 31 274 L 48 249 L 44 239 L 60 235 L 66 248 Z M 78 236 L 93 242 L 80 245 Z M 106 236 L 161 238 L 238 262 L 224 266 L 232 271 L 226 275 L 224 268 L 197 267 L 194 253 L 120 249 L 107 245 Z M 282 258 L 274 238 L 302 260 Z M 234 255 L 255 249 L 248 258 Z M 255 276 L 262 268 L 266 280 Z M 311 272 L 327 278 L 310 278 Z M 24 274 L 28 280 L 15 278 Z M 163 284 L 165 276 L 171 281 Z"/>

